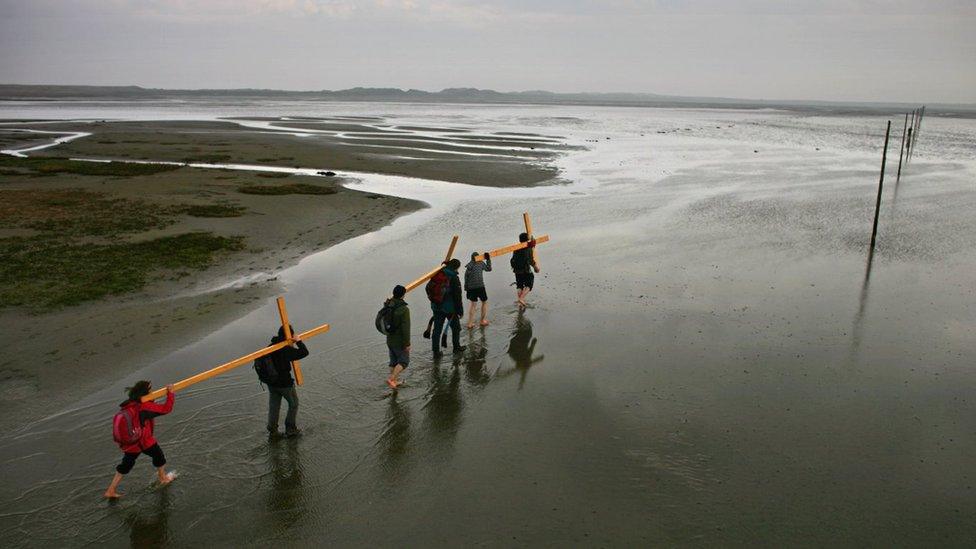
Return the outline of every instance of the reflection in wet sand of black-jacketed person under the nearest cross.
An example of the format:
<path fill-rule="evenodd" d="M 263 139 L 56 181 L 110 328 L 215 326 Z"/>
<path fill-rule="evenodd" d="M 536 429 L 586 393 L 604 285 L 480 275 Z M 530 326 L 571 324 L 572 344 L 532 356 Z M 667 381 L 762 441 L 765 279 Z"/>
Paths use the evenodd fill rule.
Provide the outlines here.
<path fill-rule="evenodd" d="M 268 492 L 268 511 L 274 526 L 287 529 L 305 513 L 302 493 L 302 462 L 298 439 L 273 441 L 268 448 L 271 469 L 271 490 Z"/>

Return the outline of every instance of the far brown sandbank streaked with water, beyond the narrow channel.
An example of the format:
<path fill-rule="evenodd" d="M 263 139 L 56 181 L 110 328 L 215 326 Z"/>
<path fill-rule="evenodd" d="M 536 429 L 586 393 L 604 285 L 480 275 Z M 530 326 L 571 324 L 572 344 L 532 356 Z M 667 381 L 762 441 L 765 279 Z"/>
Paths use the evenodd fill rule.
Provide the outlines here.
<path fill-rule="evenodd" d="M 78 139 L 42 152 L 62 157 L 259 163 L 405 175 L 498 187 L 543 183 L 557 175 L 545 163 L 554 155 L 541 151 L 514 153 L 460 146 L 438 148 L 436 145 L 368 139 L 349 142 L 330 135 L 296 136 L 270 129 L 242 128 L 232 122 L 66 123 L 45 125 L 45 129 L 95 134 L 91 139 Z M 292 128 L 292 131 L 300 130 Z"/>

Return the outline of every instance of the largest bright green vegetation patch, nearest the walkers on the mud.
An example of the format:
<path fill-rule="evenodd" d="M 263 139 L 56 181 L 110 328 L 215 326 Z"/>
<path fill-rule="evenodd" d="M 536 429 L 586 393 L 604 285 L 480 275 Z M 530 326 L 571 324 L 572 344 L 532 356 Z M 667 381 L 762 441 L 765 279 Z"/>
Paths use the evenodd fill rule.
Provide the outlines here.
<path fill-rule="evenodd" d="M 196 232 L 143 242 L 66 244 L 46 237 L 0 239 L 0 307 L 77 305 L 142 288 L 158 269 L 204 269 L 241 237 Z"/>

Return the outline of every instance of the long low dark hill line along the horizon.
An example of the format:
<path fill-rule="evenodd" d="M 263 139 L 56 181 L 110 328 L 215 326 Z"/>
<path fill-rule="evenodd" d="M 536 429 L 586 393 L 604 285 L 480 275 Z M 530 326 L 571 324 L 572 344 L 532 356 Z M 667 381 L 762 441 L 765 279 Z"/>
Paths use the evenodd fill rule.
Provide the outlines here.
<path fill-rule="evenodd" d="M 782 108 L 820 112 L 904 112 L 918 105 L 840 101 L 794 101 L 683 97 L 653 93 L 555 93 L 543 90 L 499 92 L 479 88 L 447 88 L 431 92 L 400 88 L 349 88 L 346 90 L 288 91 L 269 89 L 170 90 L 139 86 L 60 86 L 0 84 L 0 100 L 165 100 L 165 99 L 279 99 L 319 101 L 401 101 L 417 103 L 493 103 L 542 105 L 604 105 L 632 107 Z M 944 115 L 976 115 L 976 104 L 929 104 L 930 112 Z"/>

